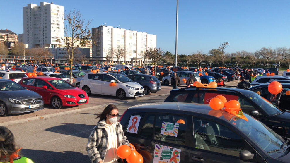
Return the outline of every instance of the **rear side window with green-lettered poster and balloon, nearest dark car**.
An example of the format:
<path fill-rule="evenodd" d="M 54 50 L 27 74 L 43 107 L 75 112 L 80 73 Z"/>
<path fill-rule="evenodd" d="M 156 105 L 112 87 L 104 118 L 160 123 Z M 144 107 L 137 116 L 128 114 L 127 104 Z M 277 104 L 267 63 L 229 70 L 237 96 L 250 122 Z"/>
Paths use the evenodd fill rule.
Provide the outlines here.
<path fill-rule="evenodd" d="M 185 145 L 186 116 L 156 115 L 154 139 L 166 143 Z"/>

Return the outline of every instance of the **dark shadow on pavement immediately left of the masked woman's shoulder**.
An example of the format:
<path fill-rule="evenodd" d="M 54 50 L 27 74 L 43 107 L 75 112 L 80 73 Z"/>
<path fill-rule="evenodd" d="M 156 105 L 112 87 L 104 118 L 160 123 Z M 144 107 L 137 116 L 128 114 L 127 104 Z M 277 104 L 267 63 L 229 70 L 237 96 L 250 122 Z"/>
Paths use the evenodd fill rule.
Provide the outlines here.
<path fill-rule="evenodd" d="M 72 135 L 87 139 L 91 134 L 91 131 L 93 131 L 93 128 L 95 127 L 95 125 L 86 125 L 86 124 L 75 124 L 75 123 L 62 123 L 62 124 L 63 125 L 47 128 L 45 129 L 45 131 L 65 135 Z"/>

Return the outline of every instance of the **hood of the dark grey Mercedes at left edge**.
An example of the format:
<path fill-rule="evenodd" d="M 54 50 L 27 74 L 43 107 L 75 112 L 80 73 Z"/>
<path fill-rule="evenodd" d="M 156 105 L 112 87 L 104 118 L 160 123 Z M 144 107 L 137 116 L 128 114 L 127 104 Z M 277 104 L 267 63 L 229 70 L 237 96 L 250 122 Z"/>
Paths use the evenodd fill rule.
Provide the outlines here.
<path fill-rule="evenodd" d="M 7 98 L 16 98 L 16 99 L 29 99 L 29 98 L 40 98 L 41 96 L 31 90 L 11 90 L 11 91 L 1 91 L 2 95 Z"/>

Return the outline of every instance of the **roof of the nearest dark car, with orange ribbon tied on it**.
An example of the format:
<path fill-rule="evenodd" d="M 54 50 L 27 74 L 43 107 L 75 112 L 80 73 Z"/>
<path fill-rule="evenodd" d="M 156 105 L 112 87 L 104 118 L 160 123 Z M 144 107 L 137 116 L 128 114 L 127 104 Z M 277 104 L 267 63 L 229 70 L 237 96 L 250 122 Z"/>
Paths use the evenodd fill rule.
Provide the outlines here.
<path fill-rule="evenodd" d="M 136 109 L 152 109 L 156 111 L 157 109 L 161 112 L 162 110 L 172 110 L 172 111 L 185 111 L 185 112 L 193 112 L 198 114 L 209 115 L 209 111 L 213 110 L 209 106 L 209 104 L 197 104 L 197 103 L 184 103 L 184 102 L 157 102 L 157 103 L 149 103 L 149 104 L 139 104 L 133 107 L 129 107 L 128 110 L 136 110 Z M 231 120 L 235 115 L 223 112 L 223 114 L 227 114 L 226 116 L 231 117 Z M 244 113 L 245 114 L 245 113 Z M 209 115 L 211 116 L 211 115 Z M 216 117 L 216 116 L 215 116 Z M 224 118 L 224 116 L 217 117 L 224 121 L 229 121 Z"/>

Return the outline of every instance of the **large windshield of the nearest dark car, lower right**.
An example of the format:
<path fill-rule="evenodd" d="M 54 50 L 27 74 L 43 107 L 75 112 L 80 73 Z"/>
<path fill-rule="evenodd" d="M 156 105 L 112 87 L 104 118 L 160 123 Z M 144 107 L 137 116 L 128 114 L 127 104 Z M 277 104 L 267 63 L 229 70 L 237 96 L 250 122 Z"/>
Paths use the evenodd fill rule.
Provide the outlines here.
<path fill-rule="evenodd" d="M 284 143 L 285 140 L 257 119 L 248 114 L 244 115 L 248 121 L 236 117 L 231 119 L 229 123 L 233 124 L 245 135 L 248 135 L 250 139 L 255 141 L 257 145 L 269 155 L 272 155 L 272 157 L 276 158 L 283 155 L 287 148 L 287 144 Z"/>

